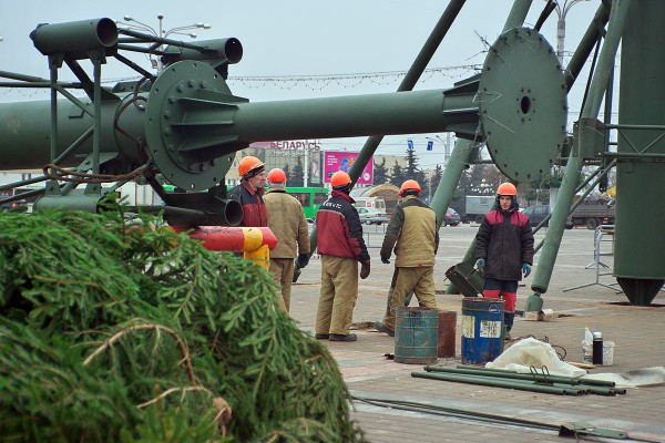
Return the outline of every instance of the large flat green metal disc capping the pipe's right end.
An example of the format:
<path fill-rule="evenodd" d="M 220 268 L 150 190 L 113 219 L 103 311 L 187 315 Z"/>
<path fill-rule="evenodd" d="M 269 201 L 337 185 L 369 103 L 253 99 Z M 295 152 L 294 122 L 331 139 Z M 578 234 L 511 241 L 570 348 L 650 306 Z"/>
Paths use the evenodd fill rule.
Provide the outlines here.
<path fill-rule="evenodd" d="M 515 28 L 490 48 L 480 76 L 480 122 L 492 159 L 516 182 L 550 172 L 563 147 L 564 78 L 554 50 L 536 31 Z"/>

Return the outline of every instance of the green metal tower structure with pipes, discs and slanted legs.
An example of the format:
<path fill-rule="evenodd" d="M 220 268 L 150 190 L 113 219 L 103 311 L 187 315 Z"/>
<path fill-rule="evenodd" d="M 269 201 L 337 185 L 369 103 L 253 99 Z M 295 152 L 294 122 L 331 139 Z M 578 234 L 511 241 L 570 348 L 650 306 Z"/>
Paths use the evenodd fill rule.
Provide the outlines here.
<path fill-rule="evenodd" d="M 484 144 L 492 161 L 515 183 L 530 183 L 565 165 L 565 176 L 550 219 L 526 309 L 540 309 L 546 292 L 573 196 L 583 166 L 595 166 L 592 184 L 616 167 L 615 276 L 628 300 L 649 305 L 665 281 L 665 59 L 655 47 L 665 4 L 658 0 L 598 1 L 594 20 L 567 66 L 540 33 L 555 4 L 549 1 L 533 28 L 523 27 L 531 0 L 516 0 L 502 34 L 491 45 L 482 72 L 452 87 L 411 91 L 448 29 L 464 6 L 451 0 L 395 93 L 253 103 L 233 94 L 226 79 L 243 55 L 235 38 L 183 43 L 117 29 L 110 19 L 40 24 L 34 47 L 47 56 L 50 78 L 0 72 L 6 87 L 50 87 L 48 102 L 0 105 L 0 169 L 42 168 L 45 182 L 35 207 L 96 210 L 103 182 L 120 186 L 143 177 L 164 200 L 174 225 L 234 226 L 236 202 L 226 198 L 225 175 L 234 153 L 252 142 L 369 136 L 350 175 L 358 178 L 382 136 L 454 132 L 460 140 L 439 184 L 432 207 L 441 220 L 463 168 L 477 162 Z M 613 69 L 622 48 L 621 105 L 613 123 Z M 567 91 L 594 47 L 593 79 L 583 111 L 566 134 Z M 164 48 L 164 49 L 163 49 Z M 164 69 L 152 74 L 132 62 L 127 51 L 161 56 Z M 102 66 L 124 63 L 143 79 L 113 89 L 101 85 Z M 92 75 L 79 64 L 90 60 Z M 60 82 L 66 65 L 78 82 Z M 528 68 L 528 69 L 526 69 Z M 88 100 L 70 92 L 79 89 Z M 605 121 L 600 121 L 605 101 Z M 610 133 L 617 131 L 616 150 Z M 566 152 L 566 140 L 573 148 Z M 166 193 L 163 177 L 177 193 Z M 24 182 L 3 186 L 20 186 Z M 83 185 L 80 189 L 79 185 Z M 640 226 L 640 229 L 636 229 Z M 315 237 L 314 237 L 315 238 Z M 471 245 L 466 260 L 473 259 Z"/>

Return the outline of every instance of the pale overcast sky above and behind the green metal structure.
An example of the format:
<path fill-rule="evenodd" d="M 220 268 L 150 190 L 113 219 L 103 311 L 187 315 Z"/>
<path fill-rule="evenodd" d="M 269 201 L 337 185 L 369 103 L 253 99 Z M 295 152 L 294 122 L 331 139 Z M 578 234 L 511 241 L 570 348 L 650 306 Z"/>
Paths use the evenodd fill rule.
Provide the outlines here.
<path fill-rule="evenodd" d="M 482 65 L 485 42 L 492 43 L 499 37 L 512 3 L 512 0 L 468 0 L 428 66 L 443 70 L 428 73 L 416 89 L 451 87 L 454 82 L 472 75 L 472 69 L 457 66 Z M 600 3 L 601 0 L 582 1 L 571 8 L 566 16 L 566 51 L 574 51 Z M 544 4 L 544 0 L 533 0 L 528 25 L 533 25 Z M 209 30 L 188 32 L 196 32 L 198 39 L 237 38 L 243 44 L 244 56 L 229 68 L 228 83 L 234 94 L 250 101 L 392 92 L 402 78 L 376 73 L 406 72 L 447 6 L 448 1 L 442 0 L 11 2 L 11 8 L 6 4 L 0 14 L 0 70 L 49 76 L 47 59 L 29 38 L 38 23 L 102 17 L 122 20 L 124 16 L 131 16 L 156 30 L 157 14 L 163 14 L 164 30 L 205 22 L 212 25 Z M 552 47 L 556 45 L 556 19 L 553 13 L 541 30 Z M 192 41 L 187 37 L 182 39 Z M 135 60 L 150 68 L 145 58 Z M 361 73 L 369 75 L 336 79 L 340 74 Z M 103 66 L 102 75 L 109 85 L 119 79 L 136 76 L 115 60 Z M 327 80 L 284 79 L 291 75 L 323 75 Z M 278 79 L 267 82 L 247 79 L 253 76 Z M 60 78 L 73 79 L 66 68 L 61 70 Z M 569 96 L 569 126 L 579 115 L 586 79 L 583 80 L 575 84 Z M 48 100 L 48 96 L 47 91 L 0 87 L 0 103 Z M 446 138 L 446 134 L 439 135 Z M 421 166 L 439 163 L 441 151 L 424 153 L 428 136 L 434 137 L 433 134 L 387 137 L 381 150 L 403 153 L 407 138 L 413 138 L 418 152 L 422 153 Z M 330 140 L 323 144 L 326 150 L 357 150 L 364 141 Z M 437 156 L 437 159 L 428 159 L 428 155 Z"/>

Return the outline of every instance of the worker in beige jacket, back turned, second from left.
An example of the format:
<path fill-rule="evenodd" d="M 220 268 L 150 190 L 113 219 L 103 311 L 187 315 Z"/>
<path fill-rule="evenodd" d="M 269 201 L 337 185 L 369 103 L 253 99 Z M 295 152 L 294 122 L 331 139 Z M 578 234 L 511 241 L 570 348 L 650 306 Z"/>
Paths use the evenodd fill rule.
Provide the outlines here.
<path fill-rule="evenodd" d="M 277 246 L 270 253 L 268 270 L 282 288 L 279 306 L 288 312 L 296 250 L 300 268 L 306 267 L 309 262 L 309 231 L 303 205 L 286 193 L 284 171 L 272 169 L 267 178 L 269 190 L 264 196 L 264 202 L 268 213 L 268 227 L 277 237 Z"/>

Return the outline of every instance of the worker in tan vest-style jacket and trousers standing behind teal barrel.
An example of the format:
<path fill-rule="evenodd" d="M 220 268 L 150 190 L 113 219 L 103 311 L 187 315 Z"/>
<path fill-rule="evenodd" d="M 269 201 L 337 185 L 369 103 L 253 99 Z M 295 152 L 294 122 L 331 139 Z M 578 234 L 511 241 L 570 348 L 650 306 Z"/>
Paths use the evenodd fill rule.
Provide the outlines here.
<path fill-rule="evenodd" d="M 420 307 L 437 308 L 434 297 L 434 256 L 439 247 L 437 216 L 419 198 L 420 185 L 408 179 L 399 189 L 402 200 L 395 208 L 381 246 L 381 261 L 390 262 L 395 247 L 397 280 L 390 298 L 390 308 L 383 321 L 375 322 L 379 332 L 395 337 L 395 315 L 405 306 L 407 296 L 413 291 Z"/>

